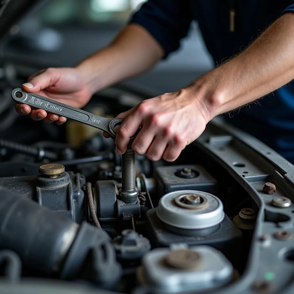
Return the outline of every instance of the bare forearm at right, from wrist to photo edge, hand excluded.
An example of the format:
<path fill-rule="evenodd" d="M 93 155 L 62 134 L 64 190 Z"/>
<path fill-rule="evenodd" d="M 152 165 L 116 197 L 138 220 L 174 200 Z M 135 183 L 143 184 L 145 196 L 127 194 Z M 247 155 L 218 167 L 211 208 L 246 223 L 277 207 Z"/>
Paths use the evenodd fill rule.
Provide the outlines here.
<path fill-rule="evenodd" d="M 294 79 L 294 14 L 273 23 L 243 53 L 187 87 L 208 120 L 256 100 Z"/>

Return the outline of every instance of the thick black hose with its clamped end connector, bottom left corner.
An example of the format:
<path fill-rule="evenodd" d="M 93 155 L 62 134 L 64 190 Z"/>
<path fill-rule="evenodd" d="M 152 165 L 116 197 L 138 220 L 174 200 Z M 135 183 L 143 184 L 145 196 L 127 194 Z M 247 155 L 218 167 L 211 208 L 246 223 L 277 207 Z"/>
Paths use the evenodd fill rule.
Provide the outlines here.
<path fill-rule="evenodd" d="M 2 186 L 0 203 L 0 250 L 14 251 L 25 270 L 116 285 L 121 266 L 116 262 L 111 238 L 102 229 L 86 222 L 78 225 Z M 89 268 L 91 275 L 82 275 Z M 10 267 L 13 269 L 17 267 Z"/>

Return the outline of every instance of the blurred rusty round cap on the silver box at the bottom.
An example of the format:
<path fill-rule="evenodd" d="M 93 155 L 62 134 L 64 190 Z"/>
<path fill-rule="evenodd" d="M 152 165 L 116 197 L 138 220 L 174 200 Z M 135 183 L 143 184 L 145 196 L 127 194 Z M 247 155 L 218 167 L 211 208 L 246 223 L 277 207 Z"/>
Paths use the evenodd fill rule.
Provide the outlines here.
<path fill-rule="evenodd" d="M 193 270 L 201 264 L 201 255 L 189 249 L 172 250 L 165 258 L 167 265 L 182 270 Z"/>

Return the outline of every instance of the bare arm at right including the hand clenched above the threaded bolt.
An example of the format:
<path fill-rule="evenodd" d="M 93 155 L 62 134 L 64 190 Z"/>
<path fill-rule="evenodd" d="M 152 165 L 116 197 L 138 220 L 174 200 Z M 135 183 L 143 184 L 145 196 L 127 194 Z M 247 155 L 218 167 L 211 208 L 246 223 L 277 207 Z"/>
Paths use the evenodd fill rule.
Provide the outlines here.
<path fill-rule="evenodd" d="M 262 97 L 293 78 L 294 13 L 286 13 L 239 56 L 180 91 L 145 100 L 121 114 L 125 120 L 116 136 L 117 149 L 123 153 L 141 126 L 133 150 L 146 153 L 151 160 L 173 161 L 214 116 Z"/>

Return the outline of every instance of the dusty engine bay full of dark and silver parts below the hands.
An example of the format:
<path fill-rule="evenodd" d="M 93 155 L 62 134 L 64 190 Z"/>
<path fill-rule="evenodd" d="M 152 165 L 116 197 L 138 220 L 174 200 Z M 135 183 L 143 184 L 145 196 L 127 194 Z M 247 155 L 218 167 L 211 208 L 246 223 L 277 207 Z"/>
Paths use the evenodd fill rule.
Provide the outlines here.
<path fill-rule="evenodd" d="M 70 143 L 0 140 L 0 290 L 291 289 L 294 167 L 285 159 L 214 121 L 176 162 L 136 155 L 139 194 L 129 201 L 113 141 L 83 129 L 77 143 L 70 124 Z"/>

